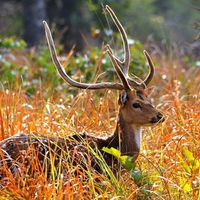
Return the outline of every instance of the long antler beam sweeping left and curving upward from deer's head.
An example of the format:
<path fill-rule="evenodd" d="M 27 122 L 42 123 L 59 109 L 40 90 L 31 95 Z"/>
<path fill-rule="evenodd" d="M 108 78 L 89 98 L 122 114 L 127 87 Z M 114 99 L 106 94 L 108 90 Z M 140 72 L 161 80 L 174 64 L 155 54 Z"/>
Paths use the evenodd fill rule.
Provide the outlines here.
<path fill-rule="evenodd" d="M 64 79 L 65 82 L 68 82 L 70 85 L 81 88 L 81 89 L 117 89 L 117 90 L 123 90 L 124 86 L 118 83 L 109 83 L 109 82 L 103 82 L 103 83 L 95 83 L 95 84 L 88 84 L 88 83 L 79 83 L 73 79 L 71 79 L 67 73 L 65 72 L 63 66 L 58 60 L 57 54 L 56 54 L 56 49 L 54 45 L 54 41 L 51 35 L 51 31 L 49 29 L 48 24 L 43 21 L 44 28 L 45 28 L 45 34 L 48 42 L 48 46 L 50 49 L 51 57 L 53 60 L 54 65 L 56 66 L 59 75 Z"/>

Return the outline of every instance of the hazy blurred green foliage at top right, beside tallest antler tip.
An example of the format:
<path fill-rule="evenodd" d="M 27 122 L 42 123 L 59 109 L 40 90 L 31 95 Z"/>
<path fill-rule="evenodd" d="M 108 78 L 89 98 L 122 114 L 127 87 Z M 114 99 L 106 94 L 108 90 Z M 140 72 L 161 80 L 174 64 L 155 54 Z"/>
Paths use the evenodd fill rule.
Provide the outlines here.
<path fill-rule="evenodd" d="M 128 35 L 142 43 L 151 39 L 159 46 L 163 42 L 169 43 L 169 46 L 174 42 L 183 46 L 185 42 L 192 42 L 198 33 L 198 30 L 193 27 L 194 23 L 199 20 L 199 12 L 192 9 L 190 4 L 200 5 L 199 1 L 103 0 L 102 4 L 110 5 Z M 91 12 L 98 16 L 98 20 L 93 21 L 94 26 L 100 27 L 101 23 L 105 29 L 107 23 L 112 24 L 109 16 L 107 19 L 102 15 L 102 7 L 98 1 L 89 1 L 88 6 Z"/>

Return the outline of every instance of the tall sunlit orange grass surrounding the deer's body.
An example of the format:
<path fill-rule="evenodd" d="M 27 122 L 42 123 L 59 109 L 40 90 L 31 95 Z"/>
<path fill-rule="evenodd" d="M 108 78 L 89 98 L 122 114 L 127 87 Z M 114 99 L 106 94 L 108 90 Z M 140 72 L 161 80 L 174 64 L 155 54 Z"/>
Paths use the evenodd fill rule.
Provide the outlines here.
<path fill-rule="evenodd" d="M 191 68 L 181 58 L 165 56 L 156 64 L 155 103 L 166 121 L 145 128 L 137 168 L 144 179 L 134 184 L 128 173 L 114 180 L 88 168 L 80 176 L 47 180 L 45 173 L 22 177 L 17 182 L 8 172 L 1 183 L 0 199 L 199 199 L 200 198 L 200 69 Z M 34 66 L 33 66 L 34 67 Z M 56 76 L 56 74 L 55 74 Z M 114 131 L 117 93 L 109 90 L 67 91 L 46 99 L 42 84 L 34 96 L 16 82 L 14 89 L 1 88 L 0 139 L 17 132 L 66 136 L 85 132 L 98 137 Z M 45 96 L 45 95 L 44 95 Z M 36 167 L 36 166 L 35 166 Z M 73 169 L 75 170 L 75 169 Z M 81 177 L 87 176 L 87 181 Z"/>

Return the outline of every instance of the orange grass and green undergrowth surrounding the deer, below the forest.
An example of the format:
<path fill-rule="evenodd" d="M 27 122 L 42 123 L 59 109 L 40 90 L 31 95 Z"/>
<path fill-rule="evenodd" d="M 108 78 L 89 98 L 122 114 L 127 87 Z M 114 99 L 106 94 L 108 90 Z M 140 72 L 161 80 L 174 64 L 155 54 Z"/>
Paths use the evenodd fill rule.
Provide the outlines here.
<path fill-rule="evenodd" d="M 77 64 L 80 61 L 72 57 L 67 71 L 75 79 L 92 82 L 90 66 L 97 67 L 92 74 L 94 80 L 102 74 L 103 81 L 117 81 L 114 75 L 104 76 L 100 64 L 107 58 L 101 52 L 86 52 L 78 57 L 82 59 L 81 65 L 89 58 L 89 68 L 86 66 L 83 72 Z M 41 173 L 17 182 L 10 175 L 9 184 L 0 185 L 0 199 L 200 199 L 200 69 L 195 62 L 176 53 L 170 59 L 160 52 L 152 56 L 156 66 L 152 101 L 166 120 L 162 125 L 144 129 L 136 165 L 123 170 L 116 178 L 102 155 L 90 149 L 100 163 L 102 174 L 88 168 L 80 176 L 72 173 L 67 181 L 61 174 L 56 180 L 47 180 Z M 41 52 L 10 50 L 7 55 L 4 53 L 5 59 L 10 57 L 8 54 L 15 59 L 7 60 L 10 65 L 1 63 L 4 67 L 1 68 L 1 140 L 18 132 L 60 137 L 80 132 L 107 137 L 113 133 L 118 92 L 71 88 L 60 80 L 45 49 Z M 46 62 L 50 63 L 45 65 L 48 71 L 43 66 Z M 144 60 L 139 59 L 139 63 L 145 65 Z M 85 176 L 87 179 L 82 178 Z"/>

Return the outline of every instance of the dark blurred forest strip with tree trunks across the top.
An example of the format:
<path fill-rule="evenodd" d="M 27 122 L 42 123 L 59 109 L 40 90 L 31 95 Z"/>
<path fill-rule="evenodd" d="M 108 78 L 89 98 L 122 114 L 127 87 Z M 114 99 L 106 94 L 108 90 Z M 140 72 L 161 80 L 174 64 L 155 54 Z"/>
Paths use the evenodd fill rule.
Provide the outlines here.
<path fill-rule="evenodd" d="M 191 46 L 198 35 L 194 27 L 199 12 L 190 7 L 198 6 L 198 0 L 1 0 L 0 36 L 23 38 L 28 46 L 42 44 L 46 20 L 67 50 L 74 44 L 76 51 L 86 45 L 101 46 L 102 38 L 112 35 L 102 11 L 106 4 L 134 40 L 167 48 L 176 44 L 189 51 L 199 46 L 197 42 Z"/>

